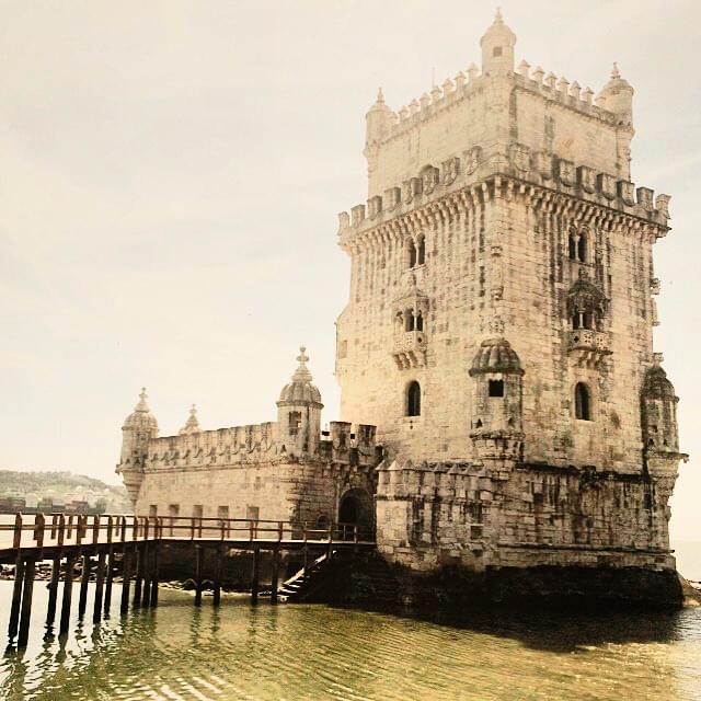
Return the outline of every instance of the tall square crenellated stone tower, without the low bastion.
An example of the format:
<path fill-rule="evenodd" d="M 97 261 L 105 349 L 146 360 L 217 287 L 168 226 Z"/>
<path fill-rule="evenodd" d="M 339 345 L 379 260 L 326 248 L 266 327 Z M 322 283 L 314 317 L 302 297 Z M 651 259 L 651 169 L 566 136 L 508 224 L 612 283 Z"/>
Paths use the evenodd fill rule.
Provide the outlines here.
<path fill-rule="evenodd" d="M 352 276 L 336 377 L 342 418 L 376 424 L 394 461 L 378 491 L 378 541 L 390 552 L 444 538 L 455 550 L 445 509 L 462 494 L 479 527 L 466 521 L 460 548 L 474 539 L 493 563 L 506 556 L 495 540 L 519 552 L 547 542 L 563 562 L 582 543 L 666 552 L 683 456 L 674 388 L 653 354 L 652 251 L 669 230 L 669 197 L 631 182 L 633 89 L 617 66 L 594 100 L 576 81 L 516 69 L 515 46 L 497 13 L 481 72 L 472 65 L 397 112 L 380 93 L 367 115 L 368 198 L 340 215 Z M 418 464 L 436 466 L 428 481 L 412 476 Z M 434 476 L 450 464 L 448 480 Z M 591 474 L 612 480 L 605 507 L 584 496 Z M 406 539 L 397 527 L 383 544 L 383 514 L 404 518 L 391 505 L 400 483 L 404 499 L 415 484 L 421 507 Z M 647 520 L 618 506 L 624 484 L 637 485 Z M 522 517 L 513 526 L 507 503 Z M 452 530 L 441 535 L 444 518 Z M 623 522 L 625 535 L 596 530 Z"/>

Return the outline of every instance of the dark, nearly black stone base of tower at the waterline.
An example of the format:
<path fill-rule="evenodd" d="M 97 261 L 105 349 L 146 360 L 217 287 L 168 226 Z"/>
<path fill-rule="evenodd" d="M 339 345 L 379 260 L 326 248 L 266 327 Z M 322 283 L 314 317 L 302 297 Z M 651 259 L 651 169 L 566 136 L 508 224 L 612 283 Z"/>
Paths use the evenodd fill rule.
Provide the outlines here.
<path fill-rule="evenodd" d="M 417 616 L 441 613 L 459 623 L 490 607 L 679 608 L 683 594 L 676 571 L 667 567 L 536 565 L 476 572 L 441 565 L 417 572 L 374 553 L 338 558 L 319 599 Z"/>

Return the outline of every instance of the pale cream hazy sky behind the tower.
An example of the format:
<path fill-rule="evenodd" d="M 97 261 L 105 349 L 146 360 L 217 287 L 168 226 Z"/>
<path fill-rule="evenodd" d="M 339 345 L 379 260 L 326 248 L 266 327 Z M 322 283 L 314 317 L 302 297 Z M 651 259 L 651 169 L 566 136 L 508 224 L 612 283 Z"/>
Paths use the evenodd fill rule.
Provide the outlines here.
<path fill-rule="evenodd" d="M 680 397 L 673 537 L 701 540 L 696 2 L 509 2 L 526 58 L 635 88 L 633 180 L 673 195 L 656 350 Z M 117 480 L 146 384 L 161 435 L 275 420 L 301 342 L 338 416 L 336 214 L 364 114 L 480 62 L 489 2 L 0 0 L 0 468 Z"/>

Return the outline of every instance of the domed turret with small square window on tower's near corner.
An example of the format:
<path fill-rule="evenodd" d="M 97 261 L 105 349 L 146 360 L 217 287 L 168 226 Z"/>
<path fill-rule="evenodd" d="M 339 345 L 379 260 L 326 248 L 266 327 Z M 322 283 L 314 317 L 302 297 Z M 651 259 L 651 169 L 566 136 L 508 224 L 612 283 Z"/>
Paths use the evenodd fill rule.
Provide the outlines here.
<path fill-rule="evenodd" d="M 480 459 L 516 459 L 522 449 L 522 376 L 506 338 L 487 338 L 472 360 L 472 430 Z"/>

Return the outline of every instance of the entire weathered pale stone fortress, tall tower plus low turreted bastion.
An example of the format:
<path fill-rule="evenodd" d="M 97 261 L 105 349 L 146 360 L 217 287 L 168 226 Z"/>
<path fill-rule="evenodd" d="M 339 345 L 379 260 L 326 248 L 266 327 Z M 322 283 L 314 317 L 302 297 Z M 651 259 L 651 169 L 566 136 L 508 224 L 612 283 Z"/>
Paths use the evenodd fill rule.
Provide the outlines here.
<path fill-rule="evenodd" d="M 669 196 L 631 180 L 616 66 L 595 97 L 516 71 L 515 44 L 497 14 L 481 71 L 367 114 L 368 199 L 338 217 L 344 421 L 321 432 L 303 349 L 275 423 L 203 432 L 193 412 L 158 438 L 142 397 L 117 467 L 137 512 L 353 520 L 418 578 L 670 596 L 686 456 L 652 255 Z"/>

